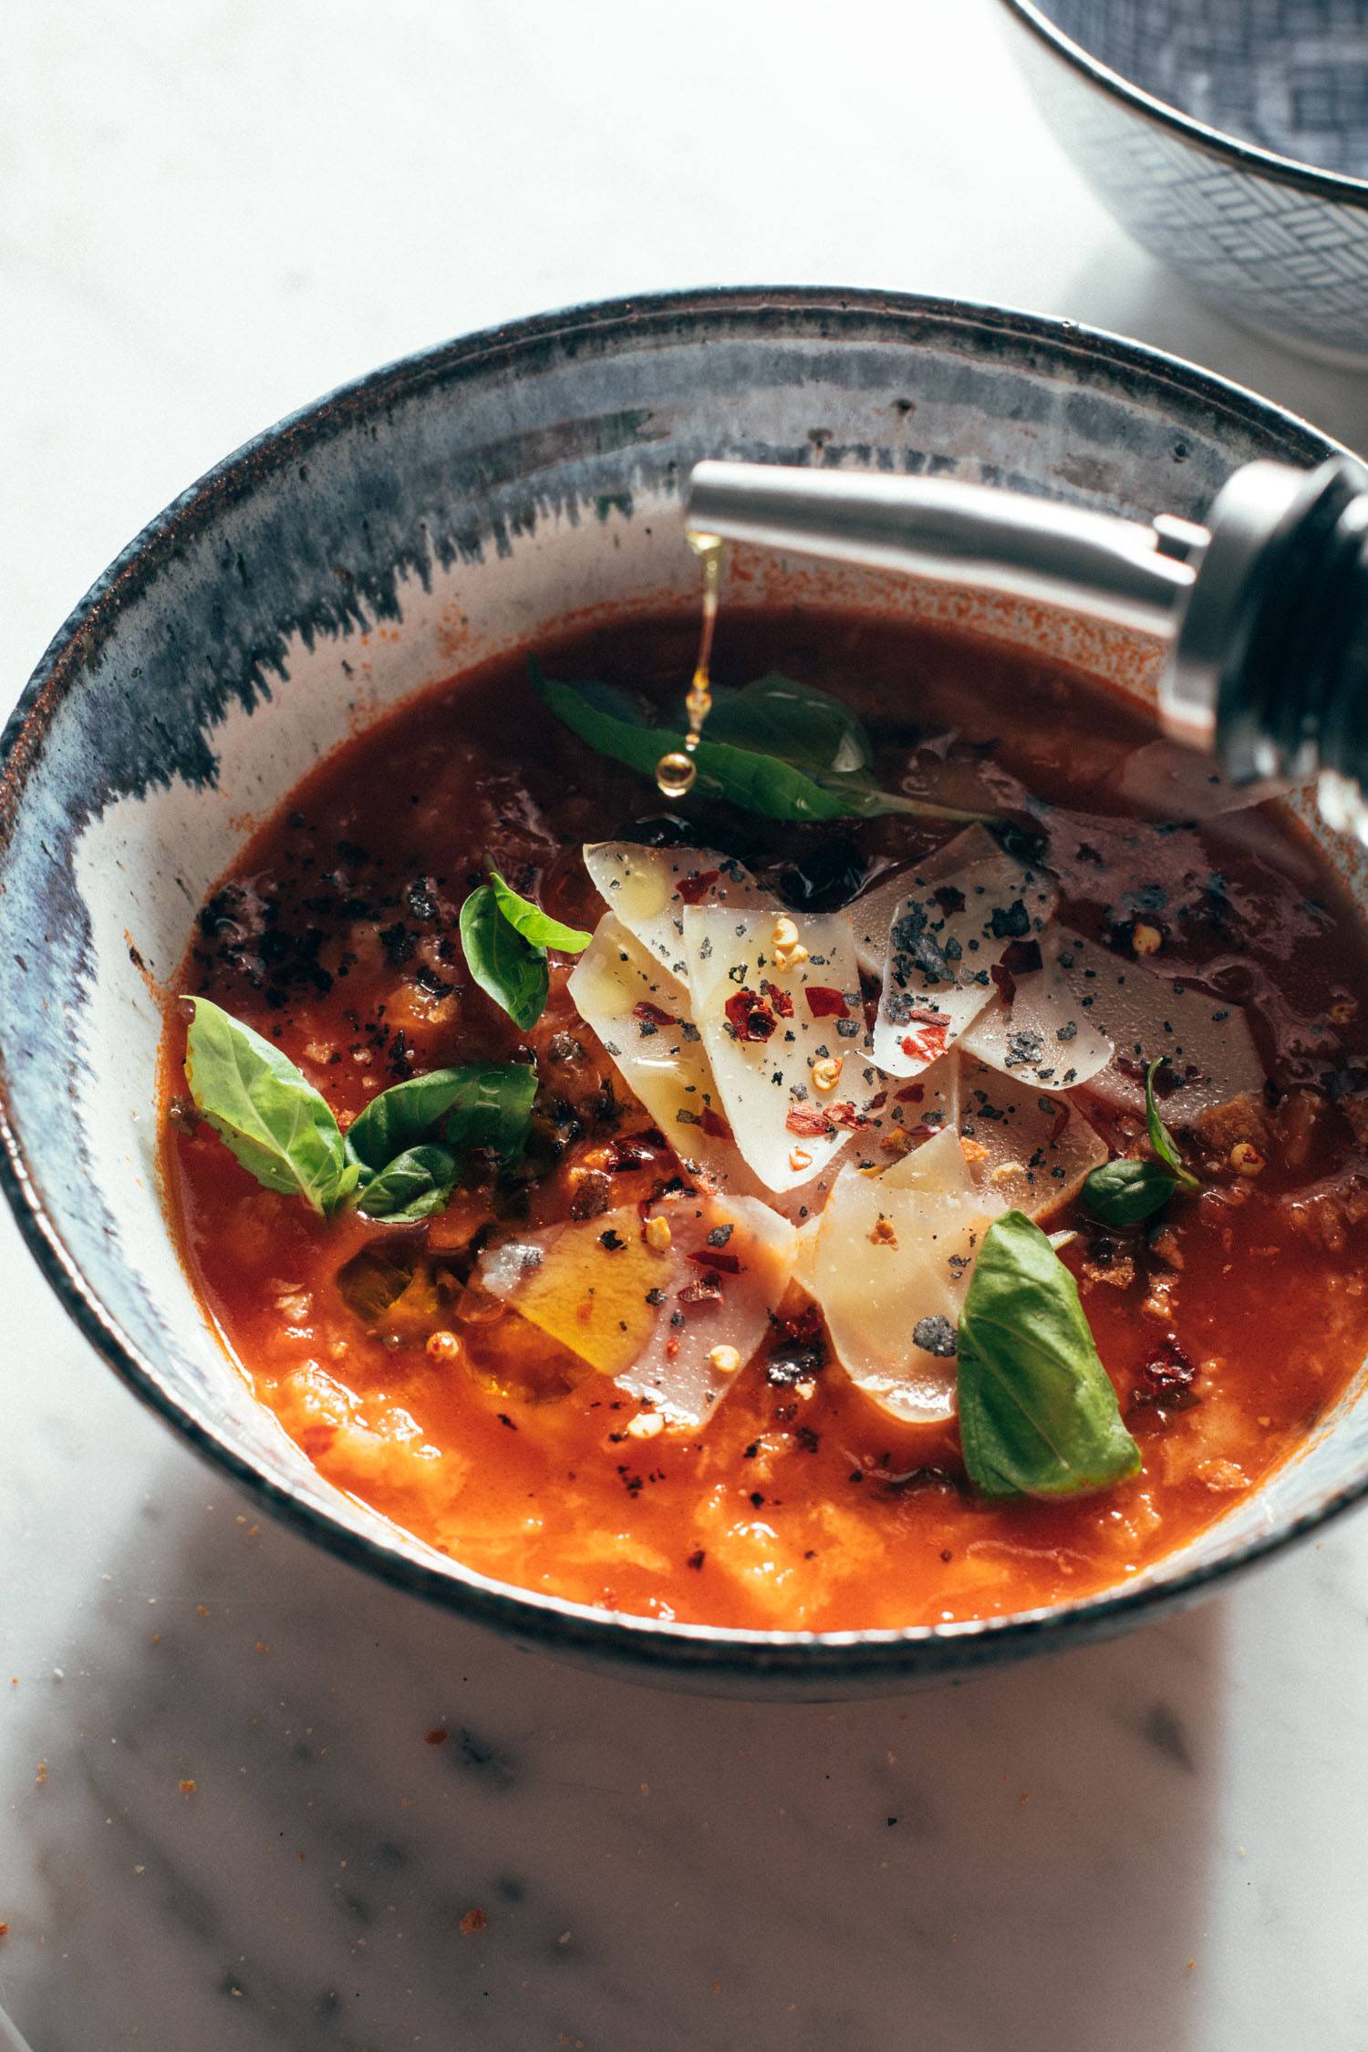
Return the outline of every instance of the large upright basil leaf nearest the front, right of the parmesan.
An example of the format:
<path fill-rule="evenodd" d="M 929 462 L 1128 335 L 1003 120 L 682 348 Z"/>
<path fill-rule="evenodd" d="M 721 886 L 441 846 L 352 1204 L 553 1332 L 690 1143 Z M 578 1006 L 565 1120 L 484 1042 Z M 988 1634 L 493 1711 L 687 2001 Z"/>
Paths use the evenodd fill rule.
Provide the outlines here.
<path fill-rule="evenodd" d="M 1140 1467 L 1077 1282 L 1021 1211 L 984 1233 L 958 1375 L 964 1465 L 984 1496 L 1075 1496 Z"/>

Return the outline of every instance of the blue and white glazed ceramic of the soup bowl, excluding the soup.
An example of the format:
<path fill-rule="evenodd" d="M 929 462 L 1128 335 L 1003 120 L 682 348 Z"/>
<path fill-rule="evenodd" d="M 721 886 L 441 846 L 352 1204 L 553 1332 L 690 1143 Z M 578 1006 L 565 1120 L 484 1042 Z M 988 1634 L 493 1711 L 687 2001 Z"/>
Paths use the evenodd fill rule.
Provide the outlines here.
<path fill-rule="evenodd" d="M 1116 1631 L 1315 1529 L 1368 1490 L 1368 1406 L 1142 1580 L 989 1623 L 714 1631 L 472 1574 L 330 1488 L 207 1328 L 158 1194 L 154 987 L 246 823 L 359 722 L 572 616 L 693 609 L 679 486 L 701 456 L 945 472 L 1198 519 L 1237 464 L 1311 466 L 1331 447 L 1130 343 L 816 289 L 525 320 L 375 371 L 250 443 L 100 579 L 4 737 L 0 1161 L 72 1317 L 193 1447 L 336 1553 L 527 1646 L 673 1687 L 907 1689 Z M 839 589 L 1071 655 L 1138 698 L 1153 685 L 1153 648 L 1048 609 L 814 564 L 753 573 L 730 603 Z"/>

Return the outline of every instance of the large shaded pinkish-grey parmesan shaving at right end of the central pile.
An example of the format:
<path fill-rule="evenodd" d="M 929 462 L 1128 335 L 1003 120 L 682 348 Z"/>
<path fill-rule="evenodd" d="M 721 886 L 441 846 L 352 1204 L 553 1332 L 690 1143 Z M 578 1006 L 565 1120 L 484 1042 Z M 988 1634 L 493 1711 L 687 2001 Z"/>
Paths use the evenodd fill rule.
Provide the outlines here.
<path fill-rule="evenodd" d="M 1116 1047 L 1089 1077 L 1099 1098 L 1142 1110 L 1144 1069 L 1159 1055 L 1167 1061 L 1161 1088 L 1171 1127 L 1190 1127 L 1212 1104 L 1263 1090 L 1263 1063 L 1241 1005 L 1069 934 L 1058 960 L 1071 979 L 1075 1016 Z"/>

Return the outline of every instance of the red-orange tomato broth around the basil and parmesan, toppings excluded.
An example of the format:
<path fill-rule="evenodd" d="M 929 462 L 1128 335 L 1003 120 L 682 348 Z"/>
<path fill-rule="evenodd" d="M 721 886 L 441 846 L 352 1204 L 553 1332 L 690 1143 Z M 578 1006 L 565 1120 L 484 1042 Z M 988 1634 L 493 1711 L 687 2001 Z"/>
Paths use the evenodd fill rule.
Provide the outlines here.
<path fill-rule="evenodd" d="M 665 702 L 691 671 L 693 636 L 691 620 L 638 620 L 537 655 L 550 675 Z M 945 776 L 1005 804 L 1003 778 L 1019 778 L 1093 827 L 1118 815 L 1120 770 L 1151 739 L 1085 679 L 968 638 L 835 614 L 724 616 L 718 679 L 771 669 L 863 716 L 884 784 L 909 776 L 919 739 L 954 731 Z M 1077 1205 L 1048 1221 L 1079 1229 L 1062 1258 L 1142 1471 L 1097 1496 L 984 1500 L 966 1486 L 954 1426 L 872 1408 L 796 1295 L 792 1324 L 773 1326 L 703 1430 L 638 1441 L 634 1399 L 468 1280 L 490 1221 L 494 1235 L 546 1225 L 585 1192 L 630 1205 L 677 1161 L 578 1022 L 570 960 L 552 956 L 550 1005 L 519 1034 L 466 973 L 459 903 L 490 858 L 556 917 L 593 925 L 603 907 L 580 843 L 650 839 L 671 811 L 790 903 L 841 903 L 954 831 L 667 806 L 556 726 L 521 661 L 500 661 L 338 749 L 222 878 L 178 989 L 273 1038 L 343 1124 L 377 1090 L 447 1063 L 523 1047 L 541 1075 L 531 1180 L 486 1178 L 414 1229 L 322 1221 L 258 1188 L 193 1116 L 185 1022 L 168 1008 L 170 1215 L 256 1397 L 330 1482 L 453 1560 L 712 1625 L 898 1627 L 1060 1603 L 1128 1580 L 1231 1510 L 1343 1393 L 1368 1342 L 1368 954 L 1311 843 L 1261 808 L 1144 835 L 1128 868 L 1105 819 L 1095 833 L 1056 823 L 1079 930 L 1124 956 L 1136 921 L 1153 921 L 1155 966 L 1249 1003 L 1270 1075 L 1265 1166 L 1237 1174 L 1237 1129 L 1216 1124 L 1194 1155 L 1204 1192 L 1159 1225 L 1110 1231 Z M 1120 1143 L 1136 1131 L 1110 1120 Z M 416 1278 L 371 1319 L 336 1280 L 363 1250 Z M 453 1338 L 429 1344 L 433 1332 Z"/>

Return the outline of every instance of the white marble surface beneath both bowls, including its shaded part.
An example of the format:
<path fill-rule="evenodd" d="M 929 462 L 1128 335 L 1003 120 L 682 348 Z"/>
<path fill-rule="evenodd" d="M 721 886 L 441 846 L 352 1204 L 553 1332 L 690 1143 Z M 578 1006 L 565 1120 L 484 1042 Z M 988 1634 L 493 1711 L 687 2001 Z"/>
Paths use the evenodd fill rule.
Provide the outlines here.
<path fill-rule="evenodd" d="M 1366 445 L 1366 382 L 1124 242 L 997 27 L 991 0 L 10 0 L 0 702 L 242 437 L 568 300 L 1005 300 Z M 0 2005 L 35 2052 L 1368 2044 L 1364 1518 L 962 1691 L 677 1699 L 258 1527 L 8 1219 L 0 1285 Z"/>

